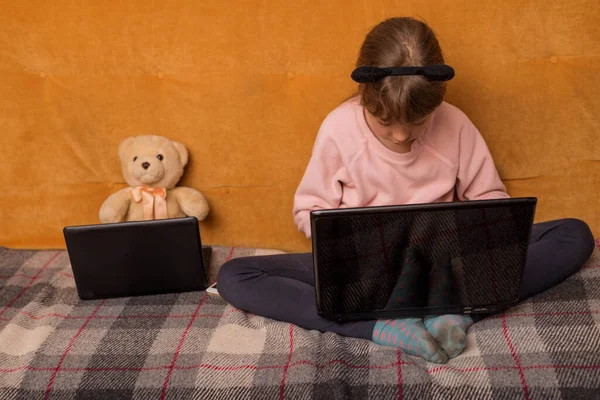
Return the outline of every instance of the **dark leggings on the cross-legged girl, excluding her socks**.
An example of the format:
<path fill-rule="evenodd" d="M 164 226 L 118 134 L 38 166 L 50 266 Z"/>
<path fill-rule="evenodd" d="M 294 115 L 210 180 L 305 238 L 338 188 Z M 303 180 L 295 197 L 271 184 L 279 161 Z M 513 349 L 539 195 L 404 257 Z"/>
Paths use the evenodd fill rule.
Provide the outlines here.
<path fill-rule="evenodd" d="M 533 226 L 520 298 L 566 279 L 589 260 L 594 237 L 585 222 L 563 219 Z M 312 255 L 233 259 L 219 271 L 219 294 L 231 305 L 304 329 L 371 339 L 375 321 L 337 323 L 317 314 Z"/>

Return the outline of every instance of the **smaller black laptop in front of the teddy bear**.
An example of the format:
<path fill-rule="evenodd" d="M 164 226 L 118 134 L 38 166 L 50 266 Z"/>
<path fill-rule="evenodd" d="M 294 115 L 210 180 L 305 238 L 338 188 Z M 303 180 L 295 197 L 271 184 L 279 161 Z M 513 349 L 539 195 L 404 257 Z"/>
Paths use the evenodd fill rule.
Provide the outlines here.
<path fill-rule="evenodd" d="M 202 291 L 210 247 L 195 217 L 68 226 L 63 230 L 82 300 Z"/>

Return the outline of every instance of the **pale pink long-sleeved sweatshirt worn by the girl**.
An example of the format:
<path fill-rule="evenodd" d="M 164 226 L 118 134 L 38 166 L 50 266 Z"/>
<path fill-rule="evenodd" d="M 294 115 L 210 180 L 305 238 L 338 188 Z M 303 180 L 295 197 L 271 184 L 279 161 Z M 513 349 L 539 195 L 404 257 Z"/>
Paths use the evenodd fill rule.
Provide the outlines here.
<path fill-rule="evenodd" d="M 353 98 L 323 121 L 293 212 L 310 237 L 311 210 L 507 197 L 481 134 L 458 108 L 442 103 L 411 151 L 396 153 L 373 135 Z"/>

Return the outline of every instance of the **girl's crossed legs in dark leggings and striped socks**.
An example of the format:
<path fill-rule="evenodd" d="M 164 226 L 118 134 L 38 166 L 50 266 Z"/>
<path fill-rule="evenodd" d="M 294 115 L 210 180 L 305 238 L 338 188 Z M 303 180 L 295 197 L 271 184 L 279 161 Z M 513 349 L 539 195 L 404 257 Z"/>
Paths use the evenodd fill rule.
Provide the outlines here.
<path fill-rule="evenodd" d="M 520 298 L 549 289 L 578 271 L 594 245 L 589 227 L 580 220 L 535 224 Z M 469 316 L 338 323 L 318 315 L 314 285 L 310 253 L 237 258 L 224 264 L 218 276 L 219 294 L 239 309 L 308 330 L 400 347 L 432 362 L 458 355 L 472 324 Z"/>

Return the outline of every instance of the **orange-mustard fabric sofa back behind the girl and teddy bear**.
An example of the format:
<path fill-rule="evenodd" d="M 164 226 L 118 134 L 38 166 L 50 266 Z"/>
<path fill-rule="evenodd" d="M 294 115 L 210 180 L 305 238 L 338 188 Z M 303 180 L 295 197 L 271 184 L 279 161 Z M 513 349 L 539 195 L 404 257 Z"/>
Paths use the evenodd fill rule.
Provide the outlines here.
<path fill-rule="evenodd" d="M 0 245 L 64 247 L 124 186 L 119 142 L 156 133 L 190 151 L 205 243 L 310 249 L 291 209 L 314 137 L 364 35 L 397 15 L 437 32 L 447 100 L 510 193 L 600 232 L 597 0 L 3 1 Z"/>

